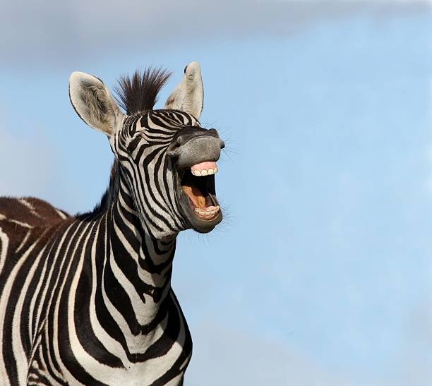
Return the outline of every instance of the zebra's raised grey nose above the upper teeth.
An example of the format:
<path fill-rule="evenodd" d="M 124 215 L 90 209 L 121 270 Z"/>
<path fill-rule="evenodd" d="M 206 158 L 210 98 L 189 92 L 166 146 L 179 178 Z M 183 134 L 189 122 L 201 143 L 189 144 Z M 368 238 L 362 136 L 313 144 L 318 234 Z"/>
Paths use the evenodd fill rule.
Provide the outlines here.
<path fill-rule="evenodd" d="M 169 145 L 167 153 L 176 158 L 179 169 L 187 169 L 200 162 L 214 161 L 220 157 L 220 150 L 225 146 L 214 129 L 197 135 L 179 135 Z"/>

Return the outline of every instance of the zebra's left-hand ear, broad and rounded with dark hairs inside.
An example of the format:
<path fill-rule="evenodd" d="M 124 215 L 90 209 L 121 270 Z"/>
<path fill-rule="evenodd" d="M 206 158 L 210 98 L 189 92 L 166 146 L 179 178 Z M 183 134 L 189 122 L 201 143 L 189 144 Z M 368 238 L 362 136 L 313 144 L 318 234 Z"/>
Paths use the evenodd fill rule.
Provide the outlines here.
<path fill-rule="evenodd" d="M 102 80 L 87 73 L 71 73 L 69 97 L 80 119 L 108 136 L 114 133 L 116 123 L 124 116 Z"/>

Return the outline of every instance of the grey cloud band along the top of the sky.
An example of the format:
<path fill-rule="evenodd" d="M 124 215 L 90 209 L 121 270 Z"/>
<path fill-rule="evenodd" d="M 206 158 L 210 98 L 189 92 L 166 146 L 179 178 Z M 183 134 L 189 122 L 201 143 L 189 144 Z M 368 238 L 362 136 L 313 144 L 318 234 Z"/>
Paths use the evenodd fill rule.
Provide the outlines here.
<path fill-rule="evenodd" d="M 424 7 L 430 1 L 228 1 L 143 2 L 12 1 L 0 14 L 0 66 L 73 65 L 83 57 L 107 58 L 133 50 L 284 35 L 320 20 L 364 9 L 380 16 Z M 423 8 L 420 8 L 423 9 Z M 387 12 L 388 11 L 388 12 Z"/>

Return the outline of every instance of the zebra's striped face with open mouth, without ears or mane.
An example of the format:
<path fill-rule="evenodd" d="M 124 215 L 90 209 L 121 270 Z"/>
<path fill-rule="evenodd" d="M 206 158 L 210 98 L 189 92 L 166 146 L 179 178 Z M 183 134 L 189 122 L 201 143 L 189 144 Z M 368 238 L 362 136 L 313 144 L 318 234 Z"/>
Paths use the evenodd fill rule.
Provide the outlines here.
<path fill-rule="evenodd" d="M 110 142 L 150 234 L 205 233 L 221 222 L 215 173 L 224 143 L 215 129 L 184 111 L 156 110 L 127 117 Z"/>

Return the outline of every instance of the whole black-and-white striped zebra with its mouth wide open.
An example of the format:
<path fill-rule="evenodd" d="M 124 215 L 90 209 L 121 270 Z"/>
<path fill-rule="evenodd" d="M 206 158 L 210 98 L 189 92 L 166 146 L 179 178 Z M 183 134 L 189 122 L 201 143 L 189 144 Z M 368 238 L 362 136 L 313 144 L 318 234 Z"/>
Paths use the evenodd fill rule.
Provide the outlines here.
<path fill-rule="evenodd" d="M 215 162 L 224 143 L 200 127 L 198 63 L 164 109 L 169 74 L 123 77 L 117 102 L 72 73 L 72 105 L 114 152 L 92 212 L 0 198 L 0 385 L 181 385 L 192 341 L 171 288 L 176 236 L 211 231 L 222 213 Z"/>

